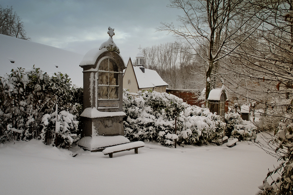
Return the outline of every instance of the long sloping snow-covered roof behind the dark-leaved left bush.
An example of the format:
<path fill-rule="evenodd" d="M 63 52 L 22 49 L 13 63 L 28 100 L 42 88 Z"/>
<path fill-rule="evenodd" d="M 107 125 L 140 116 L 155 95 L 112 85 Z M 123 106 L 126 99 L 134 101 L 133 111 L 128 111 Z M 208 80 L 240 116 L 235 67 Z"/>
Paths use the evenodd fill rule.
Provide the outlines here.
<path fill-rule="evenodd" d="M 31 70 L 33 65 L 50 75 L 69 75 L 72 84 L 83 86 L 83 55 L 33 41 L 0 34 L 0 75 L 10 74 L 17 67 Z M 14 61 L 14 63 L 12 62 Z"/>

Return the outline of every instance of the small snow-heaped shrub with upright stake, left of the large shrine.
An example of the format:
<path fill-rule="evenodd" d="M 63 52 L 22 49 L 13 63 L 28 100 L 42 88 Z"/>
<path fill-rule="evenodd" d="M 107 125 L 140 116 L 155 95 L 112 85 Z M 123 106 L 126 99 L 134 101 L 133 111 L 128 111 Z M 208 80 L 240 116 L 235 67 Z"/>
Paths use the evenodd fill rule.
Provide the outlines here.
<path fill-rule="evenodd" d="M 42 117 L 41 138 L 46 144 L 53 143 L 61 148 L 69 149 L 71 144 L 80 138 L 77 135 L 78 121 L 76 116 L 63 110 L 59 114 L 45 114 Z"/>

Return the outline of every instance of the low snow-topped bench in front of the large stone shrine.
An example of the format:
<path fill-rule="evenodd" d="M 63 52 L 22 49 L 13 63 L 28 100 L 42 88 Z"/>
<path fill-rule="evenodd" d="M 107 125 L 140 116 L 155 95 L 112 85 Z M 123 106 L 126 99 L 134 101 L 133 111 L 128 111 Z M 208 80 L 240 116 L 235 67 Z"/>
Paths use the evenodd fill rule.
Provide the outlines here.
<path fill-rule="evenodd" d="M 145 146 L 144 142 L 135 141 L 135 142 L 125 143 L 125 144 L 105 148 L 105 150 L 103 150 L 103 153 L 104 155 L 109 155 L 109 157 L 112 158 L 113 153 L 118 153 L 118 152 L 134 149 L 135 154 L 138 154 L 138 148 L 141 148 L 144 146 Z"/>

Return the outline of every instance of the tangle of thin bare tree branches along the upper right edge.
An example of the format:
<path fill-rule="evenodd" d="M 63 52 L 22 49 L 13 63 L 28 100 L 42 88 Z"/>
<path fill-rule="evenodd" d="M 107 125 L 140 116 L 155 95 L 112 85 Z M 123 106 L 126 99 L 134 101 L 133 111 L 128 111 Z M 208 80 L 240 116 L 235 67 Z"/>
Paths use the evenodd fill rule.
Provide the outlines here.
<path fill-rule="evenodd" d="M 241 93 L 235 88 L 237 79 L 230 76 L 225 78 L 227 86 L 238 97 L 252 99 L 265 109 L 278 107 L 286 112 L 293 92 L 293 0 L 248 3 L 257 11 L 257 33 L 243 41 L 230 55 L 230 63 L 222 67 L 250 84 L 237 84 Z"/>

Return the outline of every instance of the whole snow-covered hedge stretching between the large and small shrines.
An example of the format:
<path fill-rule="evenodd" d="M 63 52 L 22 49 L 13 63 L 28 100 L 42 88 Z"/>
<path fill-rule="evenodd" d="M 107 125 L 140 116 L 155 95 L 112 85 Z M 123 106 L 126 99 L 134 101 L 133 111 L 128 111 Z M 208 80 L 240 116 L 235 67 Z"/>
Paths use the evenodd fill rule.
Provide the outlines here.
<path fill-rule="evenodd" d="M 131 96 L 124 90 L 123 95 L 125 136 L 130 140 L 154 140 L 172 146 L 174 140 L 179 144 L 201 145 L 222 137 L 225 123 L 209 109 L 190 106 L 174 95 L 155 91 L 140 91 Z"/>

